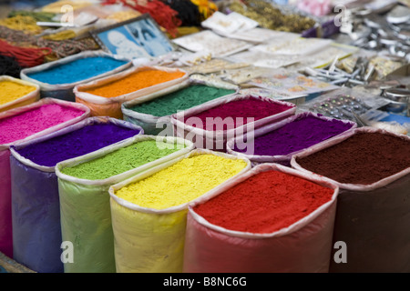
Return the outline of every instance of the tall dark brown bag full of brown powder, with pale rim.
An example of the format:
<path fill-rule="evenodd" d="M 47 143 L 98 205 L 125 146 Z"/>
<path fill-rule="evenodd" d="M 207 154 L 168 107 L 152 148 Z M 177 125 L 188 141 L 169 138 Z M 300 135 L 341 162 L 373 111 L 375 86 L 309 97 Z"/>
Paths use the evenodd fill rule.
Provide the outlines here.
<path fill-rule="evenodd" d="M 410 137 L 356 128 L 293 156 L 295 169 L 340 187 L 331 272 L 409 272 Z M 338 251 L 338 250 L 335 250 Z"/>

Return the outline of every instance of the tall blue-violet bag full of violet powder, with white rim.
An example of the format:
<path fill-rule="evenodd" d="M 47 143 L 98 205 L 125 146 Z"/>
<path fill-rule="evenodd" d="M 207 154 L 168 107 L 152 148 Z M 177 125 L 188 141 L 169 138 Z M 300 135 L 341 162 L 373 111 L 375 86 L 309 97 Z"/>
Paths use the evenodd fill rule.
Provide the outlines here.
<path fill-rule="evenodd" d="M 138 125 L 89 117 L 10 148 L 16 262 L 39 273 L 64 272 L 56 164 L 142 134 Z"/>

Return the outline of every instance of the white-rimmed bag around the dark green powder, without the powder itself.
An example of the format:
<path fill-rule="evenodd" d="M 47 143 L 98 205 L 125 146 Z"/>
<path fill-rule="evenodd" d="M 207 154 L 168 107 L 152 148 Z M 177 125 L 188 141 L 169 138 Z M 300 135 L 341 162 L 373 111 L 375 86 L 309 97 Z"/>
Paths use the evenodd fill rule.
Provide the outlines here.
<path fill-rule="evenodd" d="M 239 91 L 237 85 L 231 85 L 231 86 L 213 85 L 213 84 L 209 84 L 208 82 L 200 82 L 198 80 L 188 79 L 182 83 L 179 83 L 178 85 L 172 85 L 169 88 L 160 90 L 156 93 L 144 95 L 144 96 L 138 97 L 137 99 L 133 99 L 133 100 L 123 103 L 121 105 L 121 111 L 124 116 L 124 119 L 133 124 L 141 126 L 142 128 L 144 128 L 144 132 L 148 135 L 162 135 L 161 133 L 173 134 L 173 129 L 172 129 L 173 126 L 170 123 L 171 115 L 156 116 L 156 115 L 151 115 L 147 113 L 141 113 L 141 112 L 138 112 L 138 110 L 133 110 L 131 108 L 144 104 L 144 103 L 148 103 L 149 101 L 157 99 L 157 98 L 166 97 L 167 95 L 183 90 L 189 87 L 190 85 L 207 85 L 207 86 L 215 87 L 215 88 L 234 90 L 234 92 L 230 95 L 237 94 Z M 213 100 L 222 98 L 224 96 L 226 95 L 222 95 Z M 203 104 L 206 104 L 208 102 L 205 102 Z M 187 107 L 182 108 L 180 110 L 186 110 L 190 107 L 193 107 L 194 105 L 192 106 L 186 105 L 186 106 Z"/>

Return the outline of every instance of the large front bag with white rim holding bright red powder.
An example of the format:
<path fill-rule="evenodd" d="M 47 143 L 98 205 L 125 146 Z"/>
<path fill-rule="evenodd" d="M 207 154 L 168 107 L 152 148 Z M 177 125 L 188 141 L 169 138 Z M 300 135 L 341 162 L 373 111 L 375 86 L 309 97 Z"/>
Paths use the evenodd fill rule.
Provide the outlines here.
<path fill-rule="evenodd" d="M 307 181 L 307 183 L 313 182 L 322 187 L 313 190 L 312 195 L 316 195 L 319 191 L 323 191 L 324 188 L 326 188 L 325 190 L 329 192 L 329 194 L 332 194 L 332 196 L 322 204 L 317 202 L 317 208 L 310 209 L 312 212 L 308 214 L 302 212 L 302 206 L 295 208 L 301 211 L 301 214 L 299 214 L 301 218 L 295 222 L 289 222 L 290 217 L 286 217 L 282 218 L 287 221 L 286 224 L 282 223 L 282 227 L 275 225 L 274 227 L 265 226 L 263 228 L 266 230 L 276 229 L 272 232 L 261 231 L 261 229 L 256 230 L 256 228 L 254 228 L 256 224 L 263 224 L 264 219 L 269 220 L 268 214 L 266 213 L 260 213 L 261 218 L 259 222 L 254 222 L 245 227 L 253 231 L 240 230 L 243 226 L 229 226 L 231 228 L 226 228 L 216 225 L 199 214 L 198 211 L 200 208 L 197 209 L 197 206 L 210 203 L 212 198 L 222 196 L 224 192 L 231 190 L 232 187 L 242 186 L 242 182 L 246 183 L 248 179 L 267 171 L 285 174 L 285 179 L 289 180 L 284 183 L 302 185 L 302 182 L 299 180 L 291 180 L 293 177 L 302 178 L 302 180 Z M 251 183 L 249 184 L 248 187 L 251 188 L 252 185 Z M 275 192 L 275 187 L 286 187 L 286 190 L 282 189 Z M 241 189 L 243 189 L 243 187 Z M 281 191 L 291 191 L 288 190 L 288 186 L 273 184 L 270 186 L 270 189 L 272 193 L 278 195 Z M 292 190 L 296 191 L 295 189 L 296 187 Z M 250 194 L 257 196 L 257 190 L 258 188 L 250 189 Z M 333 225 L 338 193 L 339 188 L 333 183 L 313 177 L 312 175 L 302 174 L 286 166 L 261 164 L 253 167 L 251 171 L 238 176 L 229 185 L 220 188 L 219 191 L 215 191 L 212 196 L 208 197 L 209 199 L 190 204 L 184 250 L 184 272 L 327 273 L 329 271 L 333 247 Z M 218 203 L 220 211 L 223 211 L 222 209 L 225 207 L 227 208 L 226 211 L 230 212 L 226 215 L 226 219 L 229 219 L 231 216 L 236 216 L 231 212 L 231 209 L 239 207 L 238 203 L 235 204 L 235 198 L 231 194 L 232 192 L 230 193 L 230 199 L 226 198 Z M 300 196 L 299 198 L 303 196 L 302 193 L 297 195 Z M 259 198 L 268 199 L 267 196 L 268 194 L 264 193 Z M 280 198 L 278 197 L 278 199 Z M 315 199 L 319 200 L 319 198 Z M 257 209 L 260 208 L 256 206 L 252 207 L 251 201 L 249 203 L 249 209 L 241 209 L 241 215 L 249 215 L 253 217 L 252 219 L 255 219 L 255 211 L 258 211 Z M 289 199 L 290 205 L 295 206 L 297 203 L 300 202 Z M 309 203 L 313 203 L 313 201 L 309 200 Z M 215 216 L 217 215 L 215 214 Z M 220 216 L 223 216 L 223 214 L 220 214 Z M 278 222 L 279 216 L 277 216 L 276 219 L 272 221 Z"/>

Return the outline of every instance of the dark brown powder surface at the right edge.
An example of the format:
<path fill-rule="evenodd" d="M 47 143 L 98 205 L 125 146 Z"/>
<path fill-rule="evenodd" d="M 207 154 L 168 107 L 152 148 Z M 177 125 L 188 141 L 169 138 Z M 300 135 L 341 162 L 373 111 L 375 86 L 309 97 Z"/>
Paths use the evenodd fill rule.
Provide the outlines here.
<path fill-rule="evenodd" d="M 410 142 L 393 135 L 356 133 L 296 162 L 340 183 L 370 185 L 410 166 Z"/>

